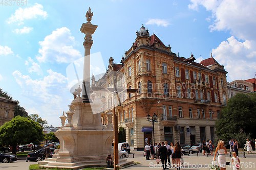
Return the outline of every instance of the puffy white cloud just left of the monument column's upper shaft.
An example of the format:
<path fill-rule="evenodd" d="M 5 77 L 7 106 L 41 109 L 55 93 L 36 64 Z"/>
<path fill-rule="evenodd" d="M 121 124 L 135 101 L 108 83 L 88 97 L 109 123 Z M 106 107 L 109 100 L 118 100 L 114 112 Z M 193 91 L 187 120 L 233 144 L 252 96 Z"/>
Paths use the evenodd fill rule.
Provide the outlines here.
<path fill-rule="evenodd" d="M 69 63 L 82 57 L 81 53 L 73 48 L 75 38 L 71 36 L 70 30 L 62 27 L 53 31 L 51 35 L 45 37 L 44 41 L 39 41 L 40 55 L 36 56 L 39 62 Z"/>

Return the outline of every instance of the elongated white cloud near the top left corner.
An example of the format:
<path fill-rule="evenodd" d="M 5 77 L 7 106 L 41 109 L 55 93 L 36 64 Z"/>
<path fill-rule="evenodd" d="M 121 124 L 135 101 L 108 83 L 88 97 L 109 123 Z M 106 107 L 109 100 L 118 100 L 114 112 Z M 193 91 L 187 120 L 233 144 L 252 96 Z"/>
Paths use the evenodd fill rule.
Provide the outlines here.
<path fill-rule="evenodd" d="M 8 23 L 18 22 L 18 25 L 24 24 L 24 20 L 41 17 L 46 19 L 48 14 L 43 10 L 43 6 L 35 3 L 33 7 L 18 8 L 15 13 L 7 20 Z"/>

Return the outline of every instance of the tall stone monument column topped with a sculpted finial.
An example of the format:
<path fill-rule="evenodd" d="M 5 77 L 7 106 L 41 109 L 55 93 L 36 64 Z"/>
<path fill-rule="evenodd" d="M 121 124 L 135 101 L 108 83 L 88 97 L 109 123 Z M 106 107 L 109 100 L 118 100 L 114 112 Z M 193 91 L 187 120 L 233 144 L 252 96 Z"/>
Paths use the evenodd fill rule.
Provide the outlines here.
<path fill-rule="evenodd" d="M 95 32 L 98 26 L 92 25 L 93 13 L 89 7 L 89 11 L 86 13 L 87 23 L 83 23 L 80 31 L 86 36 L 84 37 L 84 60 L 83 60 L 83 81 L 82 81 L 82 100 L 83 103 L 90 103 L 90 54 L 91 47 L 93 45 L 92 34 Z"/>

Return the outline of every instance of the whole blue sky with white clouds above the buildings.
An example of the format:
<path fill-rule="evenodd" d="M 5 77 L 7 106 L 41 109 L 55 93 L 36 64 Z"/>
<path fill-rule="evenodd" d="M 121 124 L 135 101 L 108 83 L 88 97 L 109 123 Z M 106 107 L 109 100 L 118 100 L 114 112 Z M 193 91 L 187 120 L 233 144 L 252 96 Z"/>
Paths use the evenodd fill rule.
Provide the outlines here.
<path fill-rule="evenodd" d="M 13 1 L 14 2 L 14 1 Z M 254 78 L 256 70 L 256 1 L 27 1 L 0 5 L 0 88 L 37 113 L 48 125 L 68 111 L 67 67 L 84 55 L 80 32 L 91 7 L 91 54 L 100 52 L 104 72 L 112 56 L 122 55 L 135 42 L 142 24 L 173 53 L 197 62 L 213 57 L 228 71 L 227 81 Z M 97 61 L 96 61 L 97 62 Z M 103 66 L 104 65 L 104 66 Z M 82 73 L 81 73 L 82 74 Z"/>

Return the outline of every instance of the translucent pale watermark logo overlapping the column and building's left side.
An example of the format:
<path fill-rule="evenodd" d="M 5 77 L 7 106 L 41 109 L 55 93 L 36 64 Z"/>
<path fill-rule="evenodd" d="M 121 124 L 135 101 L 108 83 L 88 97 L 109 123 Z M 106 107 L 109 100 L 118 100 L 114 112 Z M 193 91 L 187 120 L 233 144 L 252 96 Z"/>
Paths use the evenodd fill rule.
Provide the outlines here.
<path fill-rule="evenodd" d="M 70 92 L 73 93 L 76 91 L 78 87 L 82 88 L 83 82 L 83 74 L 85 71 L 90 70 L 90 77 L 86 77 L 86 81 L 90 81 L 90 86 L 92 85 L 92 76 L 94 76 L 95 81 L 98 81 L 99 85 L 106 88 L 96 88 L 96 90 L 90 91 L 87 89 L 87 94 L 90 94 L 91 98 L 91 106 L 94 108 L 93 104 L 101 105 L 100 108 L 92 109 L 93 114 L 100 113 L 102 111 L 106 111 L 112 109 L 114 106 L 118 106 L 120 102 L 123 102 L 122 96 L 127 96 L 127 90 L 122 88 L 117 88 L 117 92 L 114 89 L 113 84 L 107 84 L 106 77 L 101 79 L 106 74 L 106 67 L 104 65 L 101 53 L 94 53 L 90 56 L 86 56 L 85 58 L 90 57 L 90 68 L 84 68 L 84 57 L 81 57 L 72 63 L 70 63 L 66 69 L 67 78 L 68 78 L 68 87 Z M 89 61 L 85 61 L 89 62 Z M 111 71 L 110 71 L 111 72 Z M 113 74 L 113 72 L 111 72 Z M 111 75 L 106 75 L 112 77 Z M 124 76 L 124 75 L 123 75 Z M 124 80 L 124 77 L 120 77 Z M 81 94 L 80 94 L 81 96 Z M 107 101 L 108 100 L 108 101 Z M 120 102 L 119 102 L 120 101 Z M 106 103 L 108 106 L 103 107 L 103 103 Z"/>

